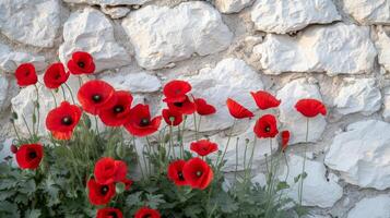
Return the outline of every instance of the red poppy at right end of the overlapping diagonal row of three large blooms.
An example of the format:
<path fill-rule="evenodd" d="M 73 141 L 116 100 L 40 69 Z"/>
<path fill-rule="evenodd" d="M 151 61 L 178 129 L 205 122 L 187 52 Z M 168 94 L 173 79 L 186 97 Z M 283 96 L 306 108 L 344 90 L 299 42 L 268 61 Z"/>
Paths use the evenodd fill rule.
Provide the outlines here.
<path fill-rule="evenodd" d="M 151 119 L 149 106 L 139 104 L 130 110 L 129 122 L 125 128 L 132 135 L 142 137 L 156 132 L 162 119 L 161 116 Z"/>

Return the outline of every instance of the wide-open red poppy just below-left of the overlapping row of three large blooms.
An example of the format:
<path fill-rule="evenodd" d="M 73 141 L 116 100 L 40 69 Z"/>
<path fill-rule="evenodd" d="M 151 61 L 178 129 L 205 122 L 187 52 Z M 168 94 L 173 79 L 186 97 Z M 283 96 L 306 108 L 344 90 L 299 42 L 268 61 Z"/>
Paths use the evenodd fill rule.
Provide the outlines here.
<path fill-rule="evenodd" d="M 61 102 L 60 107 L 49 111 L 46 117 L 46 128 L 57 140 L 70 140 L 74 128 L 81 118 L 79 106 Z"/>

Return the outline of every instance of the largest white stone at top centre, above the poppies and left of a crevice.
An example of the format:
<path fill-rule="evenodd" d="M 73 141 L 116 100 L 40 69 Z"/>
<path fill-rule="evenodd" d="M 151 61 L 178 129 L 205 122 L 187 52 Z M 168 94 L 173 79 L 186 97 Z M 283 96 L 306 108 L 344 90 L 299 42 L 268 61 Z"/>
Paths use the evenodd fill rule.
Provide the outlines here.
<path fill-rule="evenodd" d="M 150 70 L 194 53 L 222 51 L 233 37 L 217 11 L 201 1 L 185 2 L 173 9 L 149 5 L 130 13 L 122 26 L 134 46 L 138 63 Z"/>

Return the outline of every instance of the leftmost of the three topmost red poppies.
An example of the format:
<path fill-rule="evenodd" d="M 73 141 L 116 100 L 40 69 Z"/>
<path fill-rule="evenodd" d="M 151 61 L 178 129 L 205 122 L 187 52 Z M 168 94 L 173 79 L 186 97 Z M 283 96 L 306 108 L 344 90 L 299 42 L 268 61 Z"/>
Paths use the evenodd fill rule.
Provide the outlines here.
<path fill-rule="evenodd" d="M 28 85 L 34 85 L 38 82 L 38 76 L 35 72 L 35 66 L 32 63 L 22 63 L 17 66 L 15 71 L 15 77 L 17 85 L 25 87 Z"/>

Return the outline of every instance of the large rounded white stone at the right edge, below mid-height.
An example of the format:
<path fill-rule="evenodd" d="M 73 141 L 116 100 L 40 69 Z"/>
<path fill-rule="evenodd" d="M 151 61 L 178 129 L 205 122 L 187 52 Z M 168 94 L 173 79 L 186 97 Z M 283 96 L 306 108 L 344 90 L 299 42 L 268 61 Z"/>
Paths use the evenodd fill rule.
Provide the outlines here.
<path fill-rule="evenodd" d="M 345 182 L 361 187 L 390 187 L 390 124 L 367 120 L 350 124 L 338 134 L 324 164 L 340 172 Z"/>

